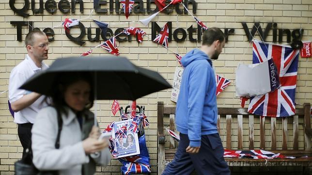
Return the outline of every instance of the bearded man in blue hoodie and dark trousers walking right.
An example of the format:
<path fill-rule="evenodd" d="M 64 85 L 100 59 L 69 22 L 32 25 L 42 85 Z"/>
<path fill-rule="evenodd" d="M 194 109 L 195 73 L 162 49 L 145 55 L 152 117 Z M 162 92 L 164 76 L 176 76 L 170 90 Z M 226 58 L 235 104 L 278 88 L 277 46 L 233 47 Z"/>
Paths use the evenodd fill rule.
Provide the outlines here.
<path fill-rule="evenodd" d="M 211 59 L 218 59 L 225 44 L 218 28 L 203 32 L 201 49 L 182 58 L 184 72 L 176 105 L 176 126 L 180 143 L 174 160 L 163 175 L 230 175 L 217 130 L 216 76 Z"/>

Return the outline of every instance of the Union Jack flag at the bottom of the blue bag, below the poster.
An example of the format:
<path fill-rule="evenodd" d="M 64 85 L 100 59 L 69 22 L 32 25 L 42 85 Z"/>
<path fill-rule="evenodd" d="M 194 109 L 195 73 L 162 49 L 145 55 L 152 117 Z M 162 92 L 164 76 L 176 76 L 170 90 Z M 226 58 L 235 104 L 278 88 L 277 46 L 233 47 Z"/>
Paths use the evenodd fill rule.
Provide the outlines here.
<path fill-rule="evenodd" d="M 121 160 L 128 161 L 127 164 L 125 164 L 125 175 L 130 174 L 139 174 L 139 173 L 147 173 L 151 172 L 151 167 L 147 163 L 143 163 L 140 160 L 139 156 L 128 156 L 124 158 L 120 158 Z M 124 168 L 124 167 L 122 167 Z"/>

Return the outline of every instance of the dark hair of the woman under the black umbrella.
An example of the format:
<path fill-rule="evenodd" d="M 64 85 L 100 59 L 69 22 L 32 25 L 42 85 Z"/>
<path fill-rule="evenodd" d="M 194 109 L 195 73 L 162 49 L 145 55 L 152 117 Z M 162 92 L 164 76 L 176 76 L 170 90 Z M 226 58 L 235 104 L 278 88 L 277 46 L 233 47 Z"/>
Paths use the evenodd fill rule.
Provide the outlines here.
<path fill-rule="evenodd" d="M 90 89 L 90 97 L 89 103 L 86 104 L 85 110 L 92 108 L 94 102 L 94 85 L 92 82 L 90 73 L 60 73 L 57 75 L 53 82 L 53 92 L 51 94 L 51 105 L 55 107 L 56 111 L 60 112 L 60 114 L 67 115 L 65 110 L 65 106 L 67 106 L 64 99 L 64 92 L 68 86 L 78 82 L 85 81 L 89 83 Z"/>

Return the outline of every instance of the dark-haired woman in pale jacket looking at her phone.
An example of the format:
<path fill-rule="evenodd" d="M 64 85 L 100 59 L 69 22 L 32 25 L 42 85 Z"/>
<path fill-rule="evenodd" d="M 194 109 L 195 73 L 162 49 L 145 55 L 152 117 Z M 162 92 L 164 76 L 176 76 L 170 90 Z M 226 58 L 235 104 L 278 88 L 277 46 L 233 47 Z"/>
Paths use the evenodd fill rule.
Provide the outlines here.
<path fill-rule="evenodd" d="M 95 164 L 110 161 L 108 140 L 98 140 L 94 126 L 94 88 L 88 73 L 59 74 L 53 83 L 51 104 L 42 109 L 31 130 L 33 164 L 41 171 L 57 170 L 60 175 L 93 175 Z M 58 119 L 62 118 L 59 149 Z M 92 158 L 90 154 L 99 152 Z"/>

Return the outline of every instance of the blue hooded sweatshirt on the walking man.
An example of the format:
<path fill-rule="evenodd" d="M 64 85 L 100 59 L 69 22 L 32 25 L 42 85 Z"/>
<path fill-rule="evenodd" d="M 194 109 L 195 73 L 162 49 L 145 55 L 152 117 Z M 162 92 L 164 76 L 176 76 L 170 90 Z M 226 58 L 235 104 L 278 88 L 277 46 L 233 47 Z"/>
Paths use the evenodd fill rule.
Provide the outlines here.
<path fill-rule="evenodd" d="M 211 59 L 193 49 L 182 60 L 184 71 L 176 106 L 177 130 L 187 134 L 189 146 L 201 146 L 202 135 L 218 133 L 216 77 Z"/>

